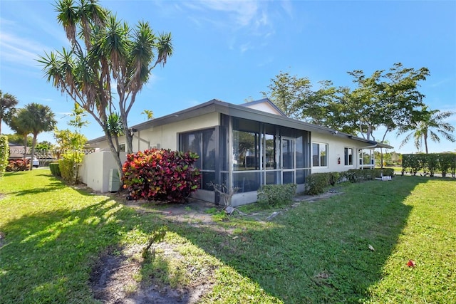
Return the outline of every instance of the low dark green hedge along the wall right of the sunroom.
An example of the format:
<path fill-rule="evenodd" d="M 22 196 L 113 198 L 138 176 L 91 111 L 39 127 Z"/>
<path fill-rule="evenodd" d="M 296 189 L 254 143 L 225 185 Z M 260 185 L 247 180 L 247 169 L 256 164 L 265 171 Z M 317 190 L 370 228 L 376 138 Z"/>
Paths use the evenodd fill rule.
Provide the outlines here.
<path fill-rule="evenodd" d="M 380 178 L 392 177 L 394 169 L 351 169 L 345 172 L 312 173 L 306 177 L 306 194 L 316 195 L 325 192 L 326 187 L 334 186 L 339 182 L 362 182 Z"/>

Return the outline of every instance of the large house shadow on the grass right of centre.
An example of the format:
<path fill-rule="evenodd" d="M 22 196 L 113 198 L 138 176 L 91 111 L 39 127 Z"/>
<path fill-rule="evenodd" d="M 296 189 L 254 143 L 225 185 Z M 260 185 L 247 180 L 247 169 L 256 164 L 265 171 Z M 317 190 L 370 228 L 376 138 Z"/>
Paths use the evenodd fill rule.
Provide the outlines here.
<path fill-rule="evenodd" d="M 285 303 L 358 303 L 381 280 L 412 208 L 404 201 L 423 182 L 350 184 L 346 194 L 303 202 L 271 223 L 230 219 L 237 234 L 170 228 Z"/>

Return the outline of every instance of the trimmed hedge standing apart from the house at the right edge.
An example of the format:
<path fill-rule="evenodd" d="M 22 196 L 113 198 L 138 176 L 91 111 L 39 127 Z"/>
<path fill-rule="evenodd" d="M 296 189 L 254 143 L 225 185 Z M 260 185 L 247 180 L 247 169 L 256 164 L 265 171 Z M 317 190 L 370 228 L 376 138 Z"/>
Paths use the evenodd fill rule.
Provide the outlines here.
<path fill-rule="evenodd" d="M 430 177 L 435 173 L 442 174 L 442 177 L 447 174 L 456 177 L 456 153 L 403 154 L 402 174 L 416 175 L 420 170 Z"/>

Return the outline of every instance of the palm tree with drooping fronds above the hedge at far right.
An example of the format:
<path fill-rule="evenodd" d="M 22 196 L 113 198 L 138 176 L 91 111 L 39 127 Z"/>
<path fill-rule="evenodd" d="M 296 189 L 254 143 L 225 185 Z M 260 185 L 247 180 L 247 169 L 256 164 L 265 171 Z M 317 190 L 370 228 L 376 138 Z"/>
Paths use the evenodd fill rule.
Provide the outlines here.
<path fill-rule="evenodd" d="M 404 140 L 401 142 L 400 147 L 407 144 L 407 142 L 413 138 L 415 147 L 420 151 L 423 147 L 423 142 L 425 145 L 425 152 L 427 150 L 427 139 L 432 140 L 432 142 L 440 142 L 439 134 L 449 140 L 450 142 L 455 142 L 456 138 L 452 135 L 452 132 L 455 131 L 455 127 L 449 122 L 445 122 L 445 119 L 455 115 L 455 112 L 445 111 L 440 112 L 440 110 L 429 110 L 427 106 L 423 107 L 420 112 L 420 118 L 417 122 L 413 123 L 413 127 L 408 127 L 408 129 L 399 130 L 398 135 L 404 134 L 410 129 L 413 129 Z"/>

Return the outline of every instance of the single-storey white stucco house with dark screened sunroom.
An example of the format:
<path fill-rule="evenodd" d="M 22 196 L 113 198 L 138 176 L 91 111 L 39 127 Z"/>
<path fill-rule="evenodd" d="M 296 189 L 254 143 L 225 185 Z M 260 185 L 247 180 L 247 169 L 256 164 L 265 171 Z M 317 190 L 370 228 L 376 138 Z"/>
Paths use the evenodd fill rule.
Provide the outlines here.
<path fill-rule="evenodd" d="M 197 152 L 202 182 L 195 198 L 216 202 L 208 183 L 225 184 L 239 188 L 233 206 L 257 201 L 263 184 L 294 183 L 302 192 L 311 173 L 373 168 L 373 150 L 392 148 L 291 119 L 268 99 L 242 105 L 214 99 L 131 130 L 134 152 L 153 147 Z M 101 152 L 86 155 L 82 181 L 107 192 L 110 169 L 115 169 L 108 143 L 100 137 L 88 144 Z"/>

